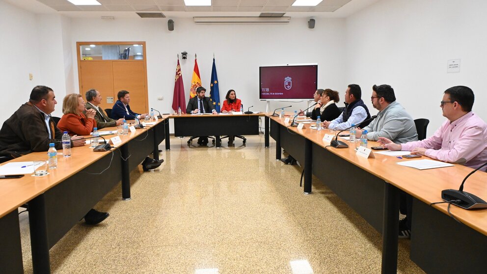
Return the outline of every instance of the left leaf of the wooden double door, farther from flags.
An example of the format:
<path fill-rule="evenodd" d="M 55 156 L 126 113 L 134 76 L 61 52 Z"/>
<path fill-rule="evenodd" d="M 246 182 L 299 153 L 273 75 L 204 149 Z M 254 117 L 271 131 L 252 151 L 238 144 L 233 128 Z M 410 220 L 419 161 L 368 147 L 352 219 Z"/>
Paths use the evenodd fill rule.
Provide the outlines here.
<path fill-rule="evenodd" d="M 111 109 L 117 101 L 117 94 L 113 89 L 113 67 L 112 62 L 89 61 L 81 62 L 80 65 L 80 94 L 86 101 L 86 91 L 94 88 L 102 95 L 100 107 Z M 113 97 L 113 103 L 107 103 L 107 97 Z"/>

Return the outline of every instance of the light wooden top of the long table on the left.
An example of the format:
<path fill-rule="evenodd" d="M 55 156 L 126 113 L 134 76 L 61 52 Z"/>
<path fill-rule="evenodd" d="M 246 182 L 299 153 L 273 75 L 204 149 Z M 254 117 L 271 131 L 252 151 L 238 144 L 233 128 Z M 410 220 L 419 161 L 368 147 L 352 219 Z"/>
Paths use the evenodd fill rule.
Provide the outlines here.
<path fill-rule="evenodd" d="M 163 119 L 159 119 L 157 123 L 161 123 L 162 121 Z M 136 129 L 136 131 L 133 133 L 129 132 L 129 135 L 127 136 L 121 135 L 120 138 L 122 142 L 114 145 L 114 147 L 120 147 L 131 139 L 145 134 L 148 129 L 153 126 L 155 125 L 148 125 L 146 128 Z M 116 131 L 116 127 L 103 128 L 101 131 L 110 130 Z M 116 135 L 107 135 L 103 137 L 108 141 L 109 138 L 115 136 Z M 116 151 L 116 149 L 112 149 L 112 151 L 113 161 L 120 159 L 120 151 Z M 58 153 L 62 153 L 62 150 L 58 150 Z M 94 152 L 88 144 L 81 147 L 72 147 L 71 157 L 65 158 L 62 155 L 58 155 L 57 168 L 49 169 L 49 174 L 46 176 L 32 177 L 32 174 L 26 174 L 24 177 L 18 179 L 1 179 L 0 218 L 110 153 L 112 152 Z M 29 162 L 35 160 L 47 160 L 47 152 L 32 152 L 3 164 L 11 162 Z"/>

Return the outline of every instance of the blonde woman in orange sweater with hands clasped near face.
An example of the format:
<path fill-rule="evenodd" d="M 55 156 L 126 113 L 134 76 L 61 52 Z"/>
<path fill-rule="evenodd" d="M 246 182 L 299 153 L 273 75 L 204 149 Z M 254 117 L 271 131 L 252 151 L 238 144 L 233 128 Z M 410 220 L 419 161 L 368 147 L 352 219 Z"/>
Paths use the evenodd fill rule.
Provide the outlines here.
<path fill-rule="evenodd" d="M 70 136 L 73 135 L 90 135 L 93 128 L 96 128 L 94 119 L 96 110 L 86 110 L 86 116 L 83 114 L 84 100 L 80 94 L 72 93 L 66 95 L 62 101 L 61 120 L 57 127 L 61 131 L 67 131 Z"/>

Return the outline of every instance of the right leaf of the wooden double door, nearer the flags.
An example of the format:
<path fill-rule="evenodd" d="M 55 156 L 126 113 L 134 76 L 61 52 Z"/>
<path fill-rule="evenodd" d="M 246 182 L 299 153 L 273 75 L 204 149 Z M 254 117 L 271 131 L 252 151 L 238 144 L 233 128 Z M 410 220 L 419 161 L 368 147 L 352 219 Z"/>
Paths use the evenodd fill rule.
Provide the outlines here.
<path fill-rule="evenodd" d="M 136 113 L 148 112 L 148 98 L 143 61 L 113 61 L 113 88 L 130 92 L 130 109 Z"/>

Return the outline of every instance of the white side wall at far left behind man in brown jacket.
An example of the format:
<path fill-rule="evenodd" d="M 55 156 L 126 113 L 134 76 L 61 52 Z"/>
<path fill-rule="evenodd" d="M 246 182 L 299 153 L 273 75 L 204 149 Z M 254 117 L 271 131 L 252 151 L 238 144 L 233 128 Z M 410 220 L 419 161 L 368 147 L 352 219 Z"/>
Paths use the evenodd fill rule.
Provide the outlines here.
<path fill-rule="evenodd" d="M 40 78 L 36 16 L 0 0 L 0 121 L 3 123 L 29 99 Z M 29 73 L 34 78 L 29 81 Z"/>

